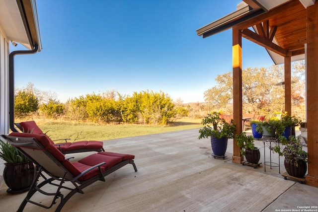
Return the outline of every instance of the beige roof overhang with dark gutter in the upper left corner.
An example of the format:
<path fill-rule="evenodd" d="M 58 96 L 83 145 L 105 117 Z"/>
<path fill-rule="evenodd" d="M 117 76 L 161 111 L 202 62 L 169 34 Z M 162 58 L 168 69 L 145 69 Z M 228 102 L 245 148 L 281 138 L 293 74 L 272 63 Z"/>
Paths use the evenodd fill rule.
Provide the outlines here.
<path fill-rule="evenodd" d="M 0 27 L 9 41 L 41 51 L 35 0 L 0 0 Z"/>

